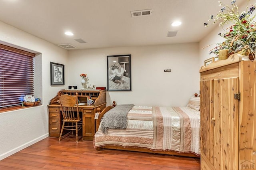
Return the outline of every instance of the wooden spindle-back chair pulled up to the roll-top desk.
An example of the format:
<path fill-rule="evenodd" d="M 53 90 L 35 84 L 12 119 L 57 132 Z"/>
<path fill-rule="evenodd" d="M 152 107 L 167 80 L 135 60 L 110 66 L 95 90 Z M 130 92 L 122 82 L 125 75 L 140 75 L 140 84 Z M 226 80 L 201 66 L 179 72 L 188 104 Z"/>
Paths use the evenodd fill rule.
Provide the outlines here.
<path fill-rule="evenodd" d="M 78 110 L 78 93 L 76 96 L 71 96 L 68 94 L 61 95 L 58 93 L 60 100 L 60 109 L 63 116 L 63 124 L 60 132 L 59 141 L 66 136 L 76 137 L 76 142 L 78 142 L 78 131 L 82 129 L 82 121 L 79 116 Z M 71 130 L 67 134 L 62 136 L 63 130 Z M 76 136 L 74 136 L 73 131 L 76 130 Z M 71 134 L 70 134 L 71 133 Z M 82 136 L 79 138 L 79 140 Z"/>

